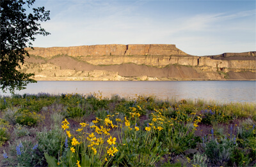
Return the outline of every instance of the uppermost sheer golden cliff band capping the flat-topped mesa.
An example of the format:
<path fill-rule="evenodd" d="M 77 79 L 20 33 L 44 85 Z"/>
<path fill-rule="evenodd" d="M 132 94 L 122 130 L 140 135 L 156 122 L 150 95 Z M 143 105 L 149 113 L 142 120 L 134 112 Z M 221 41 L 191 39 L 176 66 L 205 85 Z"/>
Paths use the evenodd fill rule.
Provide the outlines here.
<path fill-rule="evenodd" d="M 53 57 L 54 55 L 87 56 L 87 55 L 188 55 L 175 45 L 84 45 L 79 47 L 27 48 L 30 55 Z"/>

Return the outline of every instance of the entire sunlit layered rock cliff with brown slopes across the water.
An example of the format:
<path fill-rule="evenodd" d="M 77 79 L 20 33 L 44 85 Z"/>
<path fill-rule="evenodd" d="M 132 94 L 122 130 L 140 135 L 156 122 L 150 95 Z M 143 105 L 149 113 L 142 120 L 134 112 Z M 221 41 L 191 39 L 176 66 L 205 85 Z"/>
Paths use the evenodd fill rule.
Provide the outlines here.
<path fill-rule="evenodd" d="M 256 52 L 186 54 L 175 45 L 28 48 L 36 80 L 256 80 Z M 38 65 L 39 64 L 39 65 Z"/>

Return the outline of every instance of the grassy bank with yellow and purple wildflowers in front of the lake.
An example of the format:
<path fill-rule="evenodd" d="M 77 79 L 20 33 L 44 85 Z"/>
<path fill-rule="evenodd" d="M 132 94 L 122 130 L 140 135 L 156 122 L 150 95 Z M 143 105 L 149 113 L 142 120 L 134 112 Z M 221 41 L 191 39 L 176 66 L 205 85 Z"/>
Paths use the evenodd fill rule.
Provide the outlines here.
<path fill-rule="evenodd" d="M 0 166 L 256 166 L 255 103 L 0 97 Z"/>

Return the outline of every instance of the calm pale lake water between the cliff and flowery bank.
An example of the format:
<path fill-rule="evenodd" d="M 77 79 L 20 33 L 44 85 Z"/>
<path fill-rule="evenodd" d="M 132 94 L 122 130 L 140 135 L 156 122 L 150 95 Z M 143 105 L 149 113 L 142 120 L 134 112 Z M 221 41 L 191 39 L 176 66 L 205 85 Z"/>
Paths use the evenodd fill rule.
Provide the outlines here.
<path fill-rule="evenodd" d="M 102 92 L 110 98 L 118 94 L 124 98 L 137 95 L 156 96 L 157 99 L 205 99 L 220 103 L 256 103 L 256 81 L 38 81 L 15 94 L 78 93 L 88 95 Z M 1 96 L 10 96 L 10 92 Z"/>

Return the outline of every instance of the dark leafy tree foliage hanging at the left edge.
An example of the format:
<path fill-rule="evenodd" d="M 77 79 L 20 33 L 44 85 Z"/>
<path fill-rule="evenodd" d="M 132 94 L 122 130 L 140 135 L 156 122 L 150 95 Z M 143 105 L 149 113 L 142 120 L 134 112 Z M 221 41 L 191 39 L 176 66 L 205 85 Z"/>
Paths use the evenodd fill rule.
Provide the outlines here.
<path fill-rule="evenodd" d="M 35 36 L 50 34 L 38 22 L 50 20 L 50 11 L 45 11 L 44 6 L 33 8 L 32 13 L 27 9 L 35 0 L 0 0 L 1 15 L 1 59 L 0 59 L 0 85 L 5 92 L 15 89 L 25 89 L 29 82 L 36 82 L 30 77 L 32 73 L 21 73 L 20 65 L 24 64 L 26 56 L 29 57 L 27 47 L 33 48 L 31 41 Z M 26 7 L 26 8 L 25 8 Z"/>

